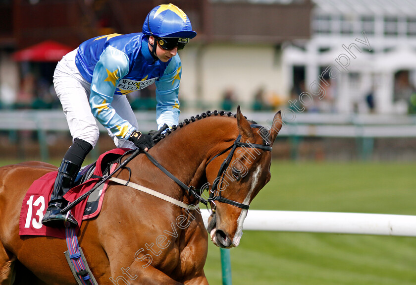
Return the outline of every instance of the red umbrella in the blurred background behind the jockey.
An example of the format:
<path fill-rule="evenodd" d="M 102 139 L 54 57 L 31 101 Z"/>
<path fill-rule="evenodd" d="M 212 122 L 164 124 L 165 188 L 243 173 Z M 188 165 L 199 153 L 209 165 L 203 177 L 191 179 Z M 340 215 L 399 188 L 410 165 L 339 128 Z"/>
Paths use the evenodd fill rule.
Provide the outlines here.
<path fill-rule="evenodd" d="M 59 61 L 73 49 L 54 41 L 45 41 L 13 54 L 16 61 Z"/>

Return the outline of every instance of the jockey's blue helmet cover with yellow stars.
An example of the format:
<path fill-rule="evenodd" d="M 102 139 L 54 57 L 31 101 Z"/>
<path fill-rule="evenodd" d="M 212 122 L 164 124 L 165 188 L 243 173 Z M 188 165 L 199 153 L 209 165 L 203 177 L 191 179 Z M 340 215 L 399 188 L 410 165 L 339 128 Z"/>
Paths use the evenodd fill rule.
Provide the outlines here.
<path fill-rule="evenodd" d="M 162 4 L 153 8 L 143 23 L 143 34 L 159 38 L 194 38 L 191 21 L 179 7 Z"/>

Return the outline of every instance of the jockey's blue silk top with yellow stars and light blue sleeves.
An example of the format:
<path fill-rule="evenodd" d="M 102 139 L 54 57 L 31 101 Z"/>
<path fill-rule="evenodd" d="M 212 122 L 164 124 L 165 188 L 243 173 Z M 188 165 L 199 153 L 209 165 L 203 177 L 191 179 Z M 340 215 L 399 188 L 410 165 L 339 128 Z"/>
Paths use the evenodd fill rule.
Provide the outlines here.
<path fill-rule="evenodd" d="M 135 130 L 111 107 L 115 96 L 156 84 L 156 122 L 178 124 L 179 55 L 168 62 L 155 61 L 142 33 L 96 37 L 79 46 L 75 63 L 91 83 L 90 107 L 97 120 L 116 137 L 128 139 Z"/>

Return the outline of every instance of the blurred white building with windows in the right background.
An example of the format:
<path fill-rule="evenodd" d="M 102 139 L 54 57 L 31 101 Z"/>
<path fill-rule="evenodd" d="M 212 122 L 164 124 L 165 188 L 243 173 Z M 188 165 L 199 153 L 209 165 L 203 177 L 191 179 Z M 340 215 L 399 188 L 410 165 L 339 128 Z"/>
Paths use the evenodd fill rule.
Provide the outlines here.
<path fill-rule="evenodd" d="M 311 111 L 368 113 L 372 93 L 375 113 L 406 114 L 416 92 L 416 0 L 313 2 L 311 40 L 283 49 L 292 99 L 305 91 L 297 99 Z"/>

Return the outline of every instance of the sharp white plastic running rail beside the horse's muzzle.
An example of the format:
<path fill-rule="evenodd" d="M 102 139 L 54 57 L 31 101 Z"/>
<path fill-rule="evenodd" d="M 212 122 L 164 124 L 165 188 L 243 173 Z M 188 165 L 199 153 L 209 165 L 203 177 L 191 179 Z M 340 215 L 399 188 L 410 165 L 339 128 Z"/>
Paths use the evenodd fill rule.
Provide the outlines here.
<path fill-rule="evenodd" d="M 208 210 L 201 213 L 207 227 Z M 244 229 L 416 236 L 416 216 L 249 210 Z"/>

